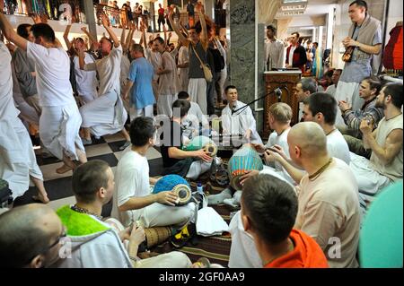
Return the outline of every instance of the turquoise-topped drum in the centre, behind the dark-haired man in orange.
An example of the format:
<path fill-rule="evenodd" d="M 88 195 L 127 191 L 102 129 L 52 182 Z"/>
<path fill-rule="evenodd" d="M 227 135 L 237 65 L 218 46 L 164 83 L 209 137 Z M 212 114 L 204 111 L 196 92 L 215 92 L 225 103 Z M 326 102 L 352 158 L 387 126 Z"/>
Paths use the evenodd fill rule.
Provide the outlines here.
<path fill-rule="evenodd" d="M 237 191 L 242 190 L 240 177 L 250 170 L 264 169 L 259 153 L 250 144 L 245 144 L 241 149 L 234 152 L 227 165 L 230 177 L 230 185 Z"/>

